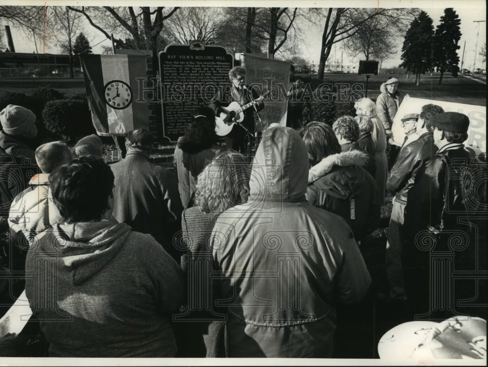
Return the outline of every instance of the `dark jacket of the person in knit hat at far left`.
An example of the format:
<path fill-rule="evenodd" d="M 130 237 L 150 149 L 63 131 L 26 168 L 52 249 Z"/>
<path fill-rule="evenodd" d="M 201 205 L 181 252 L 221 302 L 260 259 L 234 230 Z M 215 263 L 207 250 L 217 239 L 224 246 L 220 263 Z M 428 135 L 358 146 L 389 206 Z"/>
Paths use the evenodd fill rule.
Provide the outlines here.
<path fill-rule="evenodd" d="M 27 139 L 0 131 L 0 216 L 7 218 L 12 200 L 39 172 Z"/>

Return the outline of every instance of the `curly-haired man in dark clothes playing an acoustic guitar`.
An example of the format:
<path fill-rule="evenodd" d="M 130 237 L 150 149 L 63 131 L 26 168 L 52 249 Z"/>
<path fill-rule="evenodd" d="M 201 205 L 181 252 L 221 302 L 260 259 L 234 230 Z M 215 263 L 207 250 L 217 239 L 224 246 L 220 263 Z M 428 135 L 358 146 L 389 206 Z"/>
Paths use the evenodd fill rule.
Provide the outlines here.
<path fill-rule="evenodd" d="M 232 82 L 230 90 L 230 102 L 238 102 L 239 105 L 243 106 L 259 98 L 258 92 L 254 88 L 249 89 L 244 82 L 244 67 L 235 66 L 230 69 L 229 79 Z M 224 112 L 224 106 L 220 102 L 223 100 L 222 97 L 223 96 L 219 95 L 216 101 L 209 105 L 209 107 L 211 107 L 215 111 L 216 116 L 219 116 L 222 112 Z M 246 132 L 246 129 L 251 135 L 254 135 L 254 132 L 256 130 L 254 112 L 255 110 L 261 111 L 264 108 L 263 100 L 255 103 L 254 106 L 256 109 L 253 106 L 246 108 L 242 112 L 244 114 L 244 120 L 240 123 L 234 123 L 232 126 L 232 130 L 227 135 L 225 135 L 225 145 L 227 146 L 227 149 L 234 149 L 238 152 L 246 154 L 247 139 L 250 138 L 249 134 Z M 226 119 L 226 122 L 233 122 L 231 116 Z"/>

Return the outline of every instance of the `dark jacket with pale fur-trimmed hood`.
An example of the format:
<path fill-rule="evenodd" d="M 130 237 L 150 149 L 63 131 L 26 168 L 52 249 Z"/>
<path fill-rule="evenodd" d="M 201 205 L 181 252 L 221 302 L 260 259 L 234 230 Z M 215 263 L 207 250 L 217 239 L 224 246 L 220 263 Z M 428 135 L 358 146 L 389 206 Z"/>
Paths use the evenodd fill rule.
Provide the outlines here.
<path fill-rule="evenodd" d="M 378 185 L 362 166 L 367 155 L 356 150 L 333 154 L 308 172 L 308 204 L 343 217 L 359 241 L 380 221 Z"/>

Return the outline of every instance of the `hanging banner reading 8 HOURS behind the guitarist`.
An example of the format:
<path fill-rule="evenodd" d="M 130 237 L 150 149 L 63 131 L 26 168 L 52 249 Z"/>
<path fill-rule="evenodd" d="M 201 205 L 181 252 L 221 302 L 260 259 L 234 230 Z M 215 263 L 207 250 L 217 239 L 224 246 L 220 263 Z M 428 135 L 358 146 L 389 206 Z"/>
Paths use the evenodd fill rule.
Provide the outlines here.
<path fill-rule="evenodd" d="M 272 97 L 264 100 L 264 110 L 259 112 L 263 125 L 258 123 L 258 131 L 275 122 L 286 126 L 290 63 L 248 54 L 244 61 L 245 82 L 249 88 L 254 86 L 261 95 L 272 91 Z"/>

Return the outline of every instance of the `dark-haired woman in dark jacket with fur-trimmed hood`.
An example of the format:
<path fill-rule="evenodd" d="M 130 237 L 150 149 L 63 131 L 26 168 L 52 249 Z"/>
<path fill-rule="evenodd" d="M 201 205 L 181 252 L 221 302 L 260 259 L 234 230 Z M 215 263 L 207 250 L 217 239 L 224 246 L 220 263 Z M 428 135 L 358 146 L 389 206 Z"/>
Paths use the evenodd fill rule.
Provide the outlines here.
<path fill-rule="evenodd" d="M 341 152 L 334 130 L 325 122 L 309 122 L 300 135 L 310 164 L 308 203 L 343 217 L 360 241 L 380 219 L 378 186 L 362 168 L 367 154 L 359 150 Z"/>

